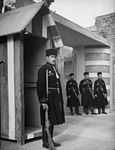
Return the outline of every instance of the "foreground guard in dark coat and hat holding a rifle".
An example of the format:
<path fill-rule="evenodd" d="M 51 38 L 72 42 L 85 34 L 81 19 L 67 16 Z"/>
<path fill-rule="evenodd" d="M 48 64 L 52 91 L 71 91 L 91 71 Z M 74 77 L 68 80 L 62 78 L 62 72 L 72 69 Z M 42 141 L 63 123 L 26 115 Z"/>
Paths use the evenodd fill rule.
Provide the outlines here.
<path fill-rule="evenodd" d="M 40 102 L 43 147 L 45 148 L 49 148 L 48 137 L 45 130 L 46 108 L 48 108 L 48 118 L 50 121 L 49 130 L 52 141 L 54 125 L 65 122 L 60 74 L 55 66 L 57 51 L 58 49 L 56 48 L 46 50 L 47 63 L 38 70 L 37 94 Z M 46 77 L 48 79 L 46 79 Z M 48 83 L 46 83 L 47 80 Z M 60 146 L 59 143 L 54 141 L 53 143 L 54 146 Z"/>

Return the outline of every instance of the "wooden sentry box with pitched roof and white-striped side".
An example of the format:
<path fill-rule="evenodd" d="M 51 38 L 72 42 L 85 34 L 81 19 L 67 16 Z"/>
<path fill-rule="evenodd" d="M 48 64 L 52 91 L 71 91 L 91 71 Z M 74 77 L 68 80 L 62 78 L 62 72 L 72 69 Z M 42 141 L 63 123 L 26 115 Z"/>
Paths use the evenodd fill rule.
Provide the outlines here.
<path fill-rule="evenodd" d="M 52 43 L 59 47 L 59 40 L 43 1 L 0 15 L 2 138 L 24 143 L 41 135 L 37 71 L 45 62 L 45 49 Z"/>

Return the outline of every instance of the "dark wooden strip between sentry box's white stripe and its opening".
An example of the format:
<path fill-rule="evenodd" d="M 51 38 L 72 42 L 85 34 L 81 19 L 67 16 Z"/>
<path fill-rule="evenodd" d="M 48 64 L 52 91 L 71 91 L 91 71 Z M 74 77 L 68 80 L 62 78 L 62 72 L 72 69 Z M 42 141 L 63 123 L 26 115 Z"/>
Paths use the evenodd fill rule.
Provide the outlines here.
<path fill-rule="evenodd" d="M 15 48 L 15 136 L 20 141 L 24 136 L 24 81 L 23 81 L 23 40 L 19 34 L 14 36 Z"/>

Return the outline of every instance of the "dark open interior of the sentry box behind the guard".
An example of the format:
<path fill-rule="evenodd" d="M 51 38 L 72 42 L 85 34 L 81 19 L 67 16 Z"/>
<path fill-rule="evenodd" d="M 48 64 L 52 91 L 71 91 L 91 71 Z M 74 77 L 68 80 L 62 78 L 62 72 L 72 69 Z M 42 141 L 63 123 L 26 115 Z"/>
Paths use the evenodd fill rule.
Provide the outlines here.
<path fill-rule="evenodd" d="M 37 97 L 37 71 L 45 62 L 46 39 L 24 35 L 24 106 L 25 132 L 41 128 L 40 106 Z"/>

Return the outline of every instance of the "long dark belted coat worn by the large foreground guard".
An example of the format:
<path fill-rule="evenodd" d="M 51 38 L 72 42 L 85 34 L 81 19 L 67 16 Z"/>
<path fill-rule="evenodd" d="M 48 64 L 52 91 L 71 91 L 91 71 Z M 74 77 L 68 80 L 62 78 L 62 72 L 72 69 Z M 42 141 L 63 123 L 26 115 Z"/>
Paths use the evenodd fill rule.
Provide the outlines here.
<path fill-rule="evenodd" d="M 48 70 L 48 99 L 46 92 L 46 70 Z M 58 71 L 57 71 L 58 73 Z M 58 73 L 58 76 L 59 73 Z M 52 125 L 58 125 L 65 122 L 63 97 L 60 79 L 56 77 L 53 65 L 46 63 L 38 70 L 37 94 L 40 104 L 47 103 L 49 106 L 48 114 Z M 40 108 L 41 124 L 45 125 L 45 111 Z"/>

